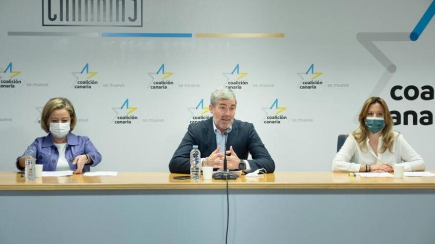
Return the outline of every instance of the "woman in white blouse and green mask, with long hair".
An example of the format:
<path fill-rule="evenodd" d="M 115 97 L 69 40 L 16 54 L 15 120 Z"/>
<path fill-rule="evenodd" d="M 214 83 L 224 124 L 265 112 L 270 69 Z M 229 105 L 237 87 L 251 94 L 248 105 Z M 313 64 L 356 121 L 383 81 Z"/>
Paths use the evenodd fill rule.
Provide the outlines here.
<path fill-rule="evenodd" d="M 425 170 L 422 157 L 392 130 L 392 116 L 382 98 L 367 99 L 358 120 L 358 129 L 332 161 L 334 172 L 392 172 L 394 164 L 402 164 L 405 171 Z"/>

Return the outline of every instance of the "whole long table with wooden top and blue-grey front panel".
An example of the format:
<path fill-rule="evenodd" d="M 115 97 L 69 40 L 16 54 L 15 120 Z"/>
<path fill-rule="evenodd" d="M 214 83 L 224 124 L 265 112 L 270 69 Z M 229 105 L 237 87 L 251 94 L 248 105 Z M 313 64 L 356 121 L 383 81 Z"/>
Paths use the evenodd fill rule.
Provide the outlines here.
<path fill-rule="evenodd" d="M 226 182 L 0 172 L 0 244 L 224 243 Z M 435 177 L 276 172 L 229 181 L 229 243 L 434 243 Z M 195 233 L 195 231 L 197 231 Z"/>

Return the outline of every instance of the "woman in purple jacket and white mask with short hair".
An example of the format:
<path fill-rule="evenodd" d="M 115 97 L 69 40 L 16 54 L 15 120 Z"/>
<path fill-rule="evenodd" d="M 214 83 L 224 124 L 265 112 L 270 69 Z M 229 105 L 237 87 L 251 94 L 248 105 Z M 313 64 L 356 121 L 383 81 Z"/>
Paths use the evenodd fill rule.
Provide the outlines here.
<path fill-rule="evenodd" d="M 52 98 L 44 106 L 41 127 L 48 133 L 35 139 L 30 147 L 37 164 L 43 171 L 72 170 L 74 174 L 88 172 L 101 162 L 101 154 L 87 137 L 71 133 L 77 124 L 76 112 L 66 98 Z M 17 158 L 16 166 L 24 170 L 24 155 Z"/>

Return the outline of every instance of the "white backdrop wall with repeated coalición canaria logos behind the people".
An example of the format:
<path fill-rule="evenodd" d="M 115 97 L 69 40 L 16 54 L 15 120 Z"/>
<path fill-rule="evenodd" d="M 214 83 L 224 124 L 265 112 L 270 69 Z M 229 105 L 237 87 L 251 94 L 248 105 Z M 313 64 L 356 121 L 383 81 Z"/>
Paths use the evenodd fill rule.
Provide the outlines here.
<path fill-rule="evenodd" d="M 204 111 L 200 101 L 207 107 L 214 89 L 236 80 L 246 83 L 234 89 L 236 118 L 254 124 L 277 171 L 331 170 L 337 136 L 357 127 L 355 116 L 370 95 L 383 97 L 402 117 L 407 110 L 419 119 L 421 111 L 434 111 L 433 96 L 412 101 L 391 96 L 396 85 L 403 86 L 395 91 L 401 96 L 407 86 L 420 93 L 422 86 L 433 87 L 434 20 L 417 41 L 409 39 L 431 0 L 144 0 L 137 1 L 142 27 L 43 26 L 42 2 L 48 4 L 0 3 L 0 171 L 14 171 L 16 157 L 45 135 L 38 123 L 41 108 L 58 96 L 75 105 L 74 133 L 88 136 L 103 156 L 93 170 L 111 171 L 168 171 L 192 117 Z M 59 2 L 51 1 L 53 11 L 59 11 Z M 278 37 L 197 35 L 241 33 Z M 370 41 L 380 38 L 373 42 L 379 50 L 370 49 Z M 395 72 L 386 71 L 389 64 Z M 302 80 L 316 75 L 314 81 L 322 84 L 301 89 Z M 21 83 L 12 87 L 7 82 L 14 79 Z M 75 88 L 86 79 L 98 84 Z M 173 84 L 151 89 L 153 79 Z M 128 112 L 137 119 L 114 123 Z M 265 124 L 275 113 L 286 119 Z M 433 123 L 403 125 L 402 119 L 394 130 L 435 170 Z"/>

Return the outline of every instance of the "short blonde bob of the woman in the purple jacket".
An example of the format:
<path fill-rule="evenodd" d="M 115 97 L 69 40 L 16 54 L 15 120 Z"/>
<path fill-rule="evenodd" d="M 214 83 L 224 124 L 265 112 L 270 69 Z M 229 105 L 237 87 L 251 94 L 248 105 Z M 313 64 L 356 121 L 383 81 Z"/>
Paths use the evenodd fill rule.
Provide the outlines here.
<path fill-rule="evenodd" d="M 48 124 L 48 117 L 54 109 L 65 108 L 71 117 L 70 130 L 72 131 L 77 124 L 76 111 L 73 104 L 66 98 L 52 98 L 44 105 L 43 112 L 41 114 L 41 128 L 48 133 L 50 132 L 50 126 Z"/>

